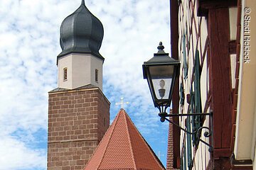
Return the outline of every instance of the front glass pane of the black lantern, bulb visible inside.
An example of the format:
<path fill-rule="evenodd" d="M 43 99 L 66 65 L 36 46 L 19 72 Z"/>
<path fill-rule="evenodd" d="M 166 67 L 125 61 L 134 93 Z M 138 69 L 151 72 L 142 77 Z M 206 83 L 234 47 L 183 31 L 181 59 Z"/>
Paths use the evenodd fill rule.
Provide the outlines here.
<path fill-rule="evenodd" d="M 156 65 L 149 67 L 154 94 L 158 100 L 169 99 L 174 65 Z"/>

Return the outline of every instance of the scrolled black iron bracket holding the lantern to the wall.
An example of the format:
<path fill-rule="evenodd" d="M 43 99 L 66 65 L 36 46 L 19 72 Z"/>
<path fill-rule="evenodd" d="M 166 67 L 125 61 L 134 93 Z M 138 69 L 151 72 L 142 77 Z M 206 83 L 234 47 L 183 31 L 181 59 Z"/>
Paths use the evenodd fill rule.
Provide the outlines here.
<path fill-rule="evenodd" d="M 178 124 L 176 124 L 173 121 L 168 119 L 168 117 L 183 117 L 183 116 L 195 116 L 195 115 L 208 115 L 210 118 L 210 128 L 203 126 L 201 128 L 198 128 L 198 130 L 189 132 L 188 130 L 182 128 Z M 205 144 L 209 147 L 208 151 L 213 152 L 213 146 L 208 144 L 206 141 L 201 140 L 201 137 L 200 137 L 203 129 L 207 130 L 206 132 L 203 133 L 204 137 L 210 137 L 211 135 L 213 135 L 213 111 L 210 111 L 210 113 L 190 113 L 190 114 L 167 114 L 166 112 L 164 112 L 164 113 L 159 113 L 159 116 L 160 116 L 161 122 L 164 122 L 165 120 L 167 120 L 169 123 L 175 125 L 177 128 L 183 130 L 184 132 L 186 132 L 190 135 L 196 135 L 200 142 L 202 142 L 203 144 Z M 213 139 L 213 137 L 212 137 L 212 139 Z M 213 140 L 212 140 L 212 144 L 213 144 Z"/>

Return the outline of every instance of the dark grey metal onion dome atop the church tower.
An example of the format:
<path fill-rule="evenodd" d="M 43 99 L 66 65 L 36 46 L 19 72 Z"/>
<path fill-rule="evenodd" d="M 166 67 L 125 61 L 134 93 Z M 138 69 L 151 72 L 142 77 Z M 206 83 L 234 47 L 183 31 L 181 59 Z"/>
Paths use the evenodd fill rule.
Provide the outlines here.
<path fill-rule="evenodd" d="M 63 51 L 58 55 L 57 62 L 60 57 L 70 53 L 91 54 L 104 60 L 99 52 L 103 35 L 102 23 L 82 0 L 79 8 L 61 23 L 60 46 Z"/>

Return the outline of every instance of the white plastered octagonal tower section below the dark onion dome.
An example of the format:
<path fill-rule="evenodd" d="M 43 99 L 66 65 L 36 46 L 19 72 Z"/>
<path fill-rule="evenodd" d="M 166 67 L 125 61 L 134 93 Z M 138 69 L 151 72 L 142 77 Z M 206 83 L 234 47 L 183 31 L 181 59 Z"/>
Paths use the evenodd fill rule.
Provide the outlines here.
<path fill-rule="evenodd" d="M 102 90 L 103 61 L 87 54 L 70 54 L 58 60 L 58 87 L 76 89 L 93 84 Z M 63 69 L 68 68 L 68 80 L 63 81 Z M 98 70 L 98 81 L 95 81 L 95 69 Z"/>

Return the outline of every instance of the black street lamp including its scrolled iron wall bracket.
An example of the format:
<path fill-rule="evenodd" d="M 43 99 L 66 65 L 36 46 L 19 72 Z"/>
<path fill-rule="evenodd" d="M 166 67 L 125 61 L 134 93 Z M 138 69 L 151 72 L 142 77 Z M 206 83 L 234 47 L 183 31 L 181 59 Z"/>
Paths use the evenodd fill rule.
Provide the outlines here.
<path fill-rule="evenodd" d="M 208 142 L 201 139 L 201 132 L 203 129 L 206 131 L 203 133 L 205 137 L 210 137 L 213 131 L 213 111 L 210 113 L 166 113 L 166 109 L 171 105 L 171 96 L 174 90 L 175 79 L 178 75 L 180 69 L 180 62 L 174 60 L 169 57 L 169 54 L 164 52 L 164 46 L 162 42 L 159 42 L 159 46 L 157 47 L 158 52 L 154 53 L 154 57 L 152 57 L 149 61 L 144 62 L 142 65 L 143 69 L 143 77 L 148 81 L 149 90 L 154 102 L 155 108 L 159 109 L 159 116 L 161 122 L 165 120 L 176 127 L 180 128 L 184 132 L 190 135 L 196 135 L 198 137 L 198 141 L 203 142 L 203 144 L 209 147 L 208 151 L 213 152 L 213 146 Z M 196 130 L 188 131 L 186 128 L 182 128 L 180 125 L 174 123 L 172 120 L 168 119 L 168 117 L 182 117 L 182 116 L 209 116 L 210 117 L 210 125 L 211 127 L 202 126 Z M 212 142 L 213 143 L 213 140 Z"/>

